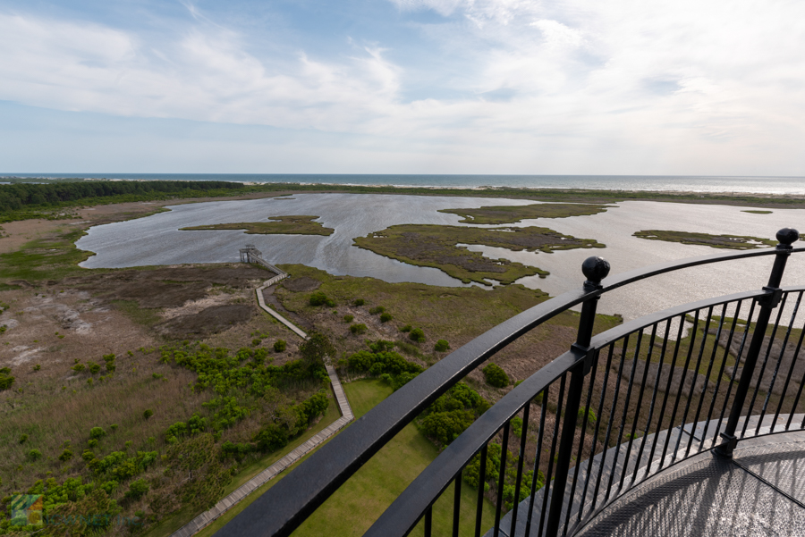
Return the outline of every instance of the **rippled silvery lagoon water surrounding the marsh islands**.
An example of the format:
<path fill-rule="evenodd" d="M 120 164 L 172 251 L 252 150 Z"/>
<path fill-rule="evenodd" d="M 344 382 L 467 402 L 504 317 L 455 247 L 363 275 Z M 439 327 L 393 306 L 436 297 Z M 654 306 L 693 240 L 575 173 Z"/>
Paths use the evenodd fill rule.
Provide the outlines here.
<path fill-rule="evenodd" d="M 417 197 L 363 194 L 301 194 L 289 198 L 220 201 L 171 207 L 130 222 L 96 226 L 77 246 L 95 252 L 82 265 L 88 268 L 152 264 L 220 263 L 238 260 L 238 249 L 253 243 L 268 262 L 299 263 L 335 275 L 371 276 L 384 281 L 415 281 L 430 285 L 463 286 L 461 281 L 434 268 L 417 267 L 352 246 L 352 239 L 400 223 L 465 225 L 455 214 L 438 209 L 489 205 L 528 205 L 523 200 L 480 197 Z M 504 257 L 549 271 L 545 278 L 524 278 L 530 288 L 558 295 L 580 286 L 582 261 L 603 256 L 612 274 L 691 256 L 724 250 L 633 237 L 640 230 L 699 231 L 713 234 L 752 235 L 773 239 L 783 227 L 805 228 L 805 210 L 775 209 L 773 214 L 748 214 L 748 207 L 705 206 L 630 201 L 615 204 L 606 213 L 571 218 L 523 221 L 575 237 L 597 239 L 606 248 L 575 249 L 552 254 L 513 252 L 505 248 L 470 246 L 486 256 Z M 247 235 L 243 231 L 179 231 L 179 228 L 225 222 L 259 222 L 269 216 L 311 214 L 335 233 L 329 237 L 299 235 Z M 625 319 L 767 283 L 772 258 L 685 269 L 632 284 L 607 293 L 598 311 L 621 314 Z M 805 283 L 805 255 L 792 256 L 784 285 Z"/>

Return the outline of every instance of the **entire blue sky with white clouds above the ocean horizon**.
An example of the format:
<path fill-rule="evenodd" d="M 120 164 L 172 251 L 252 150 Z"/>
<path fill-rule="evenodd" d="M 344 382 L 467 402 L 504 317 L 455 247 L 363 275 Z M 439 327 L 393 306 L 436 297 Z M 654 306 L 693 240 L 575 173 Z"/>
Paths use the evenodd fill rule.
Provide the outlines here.
<path fill-rule="evenodd" d="M 801 0 L 0 0 L 0 172 L 805 175 Z"/>

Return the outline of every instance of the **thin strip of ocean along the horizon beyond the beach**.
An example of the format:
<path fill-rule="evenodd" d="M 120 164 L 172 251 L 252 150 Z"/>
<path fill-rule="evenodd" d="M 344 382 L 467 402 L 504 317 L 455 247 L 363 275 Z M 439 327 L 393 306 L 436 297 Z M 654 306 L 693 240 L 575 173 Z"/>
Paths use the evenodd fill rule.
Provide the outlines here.
<path fill-rule="evenodd" d="M 671 176 L 671 175 L 394 175 L 314 173 L 0 173 L 8 177 L 118 180 L 231 180 L 258 183 L 385 185 L 450 189 L 511 187 L 529 189 L 654 190 L 746 192 L 805 195 L 805 177 Z"/>

